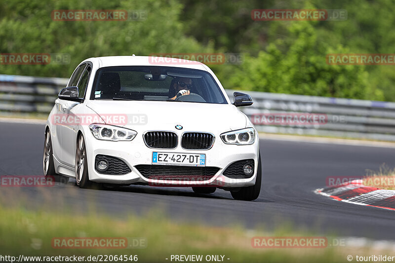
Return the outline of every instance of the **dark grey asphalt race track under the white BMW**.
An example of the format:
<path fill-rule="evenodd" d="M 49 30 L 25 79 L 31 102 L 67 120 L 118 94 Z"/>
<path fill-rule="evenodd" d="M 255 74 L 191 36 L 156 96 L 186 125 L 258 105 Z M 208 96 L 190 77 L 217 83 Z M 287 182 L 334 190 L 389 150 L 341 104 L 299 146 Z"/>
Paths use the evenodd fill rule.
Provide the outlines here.
<path fill-rule="evenodd" d="M 42 174 L 42 124 L 0 122 L 0 134 L 0 175 Z M 121 218 L 159 208 L 176 222 L 269 230 L 287 223 L 294 229 L 394 240 L 395 211 L 313 192 L 325 186 L 328 176 L 361 176 L 365 169 L 377 170 L 383 163 L 395 167 L 394 153 L 391 148 L 261 140 L 263 189 L 253 202 L 233 200 L 224 190 L 199 195 L 192 188 L 79 189 L 73 179 L 68 185 L 45 189 L 0 188 L 0 196 L 9 205 L 24 203 L 29 209 L 95 210 Z"/>

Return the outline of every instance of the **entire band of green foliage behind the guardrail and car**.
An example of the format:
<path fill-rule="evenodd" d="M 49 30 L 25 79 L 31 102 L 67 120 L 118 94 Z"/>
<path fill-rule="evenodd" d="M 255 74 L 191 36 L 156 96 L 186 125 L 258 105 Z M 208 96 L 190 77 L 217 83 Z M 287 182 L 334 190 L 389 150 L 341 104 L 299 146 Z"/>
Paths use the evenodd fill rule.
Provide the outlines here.
<path fill-rule="evenodd" d="M 394 0 L 2 0 L 0 53 L 64 53 L 69 64 L 0 74 L 69 77 L 85 58 L 238 53 L 212 65 L 225 88 L 395 101 L 394 66 L 328 65 L 328 53 L 395 53 Z M 345 21 L 253 21 L 252 9 L 345 9 Z M 52 10 L 144 10 L 142 21 L 54 21 Z"/>

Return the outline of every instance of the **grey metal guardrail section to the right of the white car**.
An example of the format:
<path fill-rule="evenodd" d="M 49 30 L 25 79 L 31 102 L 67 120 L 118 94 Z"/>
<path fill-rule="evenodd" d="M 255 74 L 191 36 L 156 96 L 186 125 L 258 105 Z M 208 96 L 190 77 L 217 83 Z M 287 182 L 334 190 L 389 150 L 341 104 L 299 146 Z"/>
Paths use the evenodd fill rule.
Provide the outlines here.
<path fill-rule="evenodd" d="M 233 92 L 227 90 L 233 101 Z M 395 103 L 318 96 L 239 91 L 254 104 L 241 109 L 251 120 L 259 113 L 323 113 L 327 123 L 315 125 L 255 125 L 267 133 L 335 136 L 395 141 Z"/>

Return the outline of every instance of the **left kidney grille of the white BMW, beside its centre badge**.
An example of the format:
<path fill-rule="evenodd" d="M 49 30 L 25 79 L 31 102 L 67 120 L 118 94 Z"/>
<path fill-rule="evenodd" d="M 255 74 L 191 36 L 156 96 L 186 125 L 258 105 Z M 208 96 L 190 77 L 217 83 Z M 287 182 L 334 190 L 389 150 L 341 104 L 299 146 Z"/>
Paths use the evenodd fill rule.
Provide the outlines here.
<path fill-rule="evenodd" d="M 148 147 L 174 149 L 177 147 L 177 134 L 167 131 L 150 131 L 144 134 L 144 142 Z"/>

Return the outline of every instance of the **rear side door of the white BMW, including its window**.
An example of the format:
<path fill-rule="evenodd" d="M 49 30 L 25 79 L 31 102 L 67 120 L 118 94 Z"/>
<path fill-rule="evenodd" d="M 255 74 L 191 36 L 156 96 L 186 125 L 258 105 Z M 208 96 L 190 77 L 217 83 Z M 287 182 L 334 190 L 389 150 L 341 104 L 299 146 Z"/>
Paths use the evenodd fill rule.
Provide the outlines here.
<path fill-rule="evenodd" d="M 83 70 L 86 67 L 86 63 L 83 63 L 79 65 L 76 70 L 74 71 L 73 75 L 70 77 L 69 83 L 67 84 L 67 87 L 73 87 L 76 86 L 79 78 L 81 77 Z M 56 99 L 55 100 L 55 117 L 54 119 L 57 119 L 55 125 L 55 134 L 56 134 L 56 139 L 52 139 L 52 144 L 53 144 L 53 152 L 55 157 L 61 162 L 65 163 L 63 160 L 63 146 L 64 146 L 64 140 L 62 138 L 62 130 L 63 130 L 63 125 L 67 125 L 67 123 L 64 121 L 67 117 L 67 108 L 70 106 L 70 101 L 66 100 L 61 100 L 61 99 Z"/>

